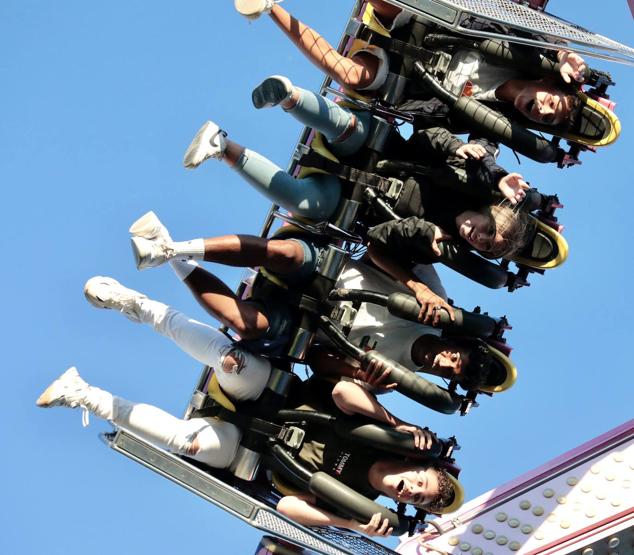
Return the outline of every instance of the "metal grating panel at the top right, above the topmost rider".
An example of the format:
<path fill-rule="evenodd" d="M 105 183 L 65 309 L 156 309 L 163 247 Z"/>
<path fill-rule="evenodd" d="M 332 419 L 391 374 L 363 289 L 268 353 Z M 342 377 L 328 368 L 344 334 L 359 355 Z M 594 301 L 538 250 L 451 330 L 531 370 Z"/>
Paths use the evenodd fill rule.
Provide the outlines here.
<path fill-rule="evenodd" d="M 521 31 L 564 41 L 581 53 L 634 65 L 634 48 L 512 0 L 394 0 L 394 3 L 441 25 L 470 35 L 509 38 L 503 34 L 474 31 L 469 28 L 472 17 L 486 19 Z M 545 43 L 543 39 L 513 37 L 512 40 L 544 48 L 558 48 L 557 44 Z M 588 50 L 575 45 L 586 47 Z"/>

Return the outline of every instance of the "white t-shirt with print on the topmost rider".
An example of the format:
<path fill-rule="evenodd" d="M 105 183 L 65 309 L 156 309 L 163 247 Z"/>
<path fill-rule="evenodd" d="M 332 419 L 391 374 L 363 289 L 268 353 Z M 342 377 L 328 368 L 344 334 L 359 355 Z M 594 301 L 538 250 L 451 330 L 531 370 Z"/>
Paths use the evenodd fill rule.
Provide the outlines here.
<path fill-rule="evenodd" d="M 508 67 L 493 65 L 481 52 L 458 50 L 452 57 L 443 85 L 452 93 L 461 96 L 467 82 L 471 91 L 467 96 L 476 100 L 495 101 L 495 89 L 509 79 L 521 77 L 521 72 Z"/>

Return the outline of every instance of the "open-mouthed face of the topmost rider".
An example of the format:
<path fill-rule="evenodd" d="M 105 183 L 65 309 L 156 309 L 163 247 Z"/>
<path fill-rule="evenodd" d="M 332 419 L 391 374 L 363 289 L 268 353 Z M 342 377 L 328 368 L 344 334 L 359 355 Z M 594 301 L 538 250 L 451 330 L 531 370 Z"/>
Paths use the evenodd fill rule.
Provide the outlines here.
<path fill-rule="evenodd" d="M 559 125 L 569 111 L 564 92 L 540 81 L 527 83 L 515 97 L 513 106 L 524 117 L 544 125 Z"/>

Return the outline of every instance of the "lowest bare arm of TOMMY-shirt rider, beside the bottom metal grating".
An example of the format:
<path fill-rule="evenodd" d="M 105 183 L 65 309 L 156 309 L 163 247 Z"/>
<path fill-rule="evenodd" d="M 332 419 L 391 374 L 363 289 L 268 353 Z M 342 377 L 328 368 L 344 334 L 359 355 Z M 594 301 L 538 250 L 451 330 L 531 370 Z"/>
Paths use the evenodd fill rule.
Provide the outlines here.
<path fill-rule="evenodd" d="M 283 515 L 305 526 L 337 526 L 363 532 L 368 536 L 389 536 L 392 528 L 388 520 L 381 522 L 380 513 L 375 514 L 368 524 L 339 517 L 315 505 L 315 497 L 310 494 L 287 495 L 277 504 L 277 510 Z"/>

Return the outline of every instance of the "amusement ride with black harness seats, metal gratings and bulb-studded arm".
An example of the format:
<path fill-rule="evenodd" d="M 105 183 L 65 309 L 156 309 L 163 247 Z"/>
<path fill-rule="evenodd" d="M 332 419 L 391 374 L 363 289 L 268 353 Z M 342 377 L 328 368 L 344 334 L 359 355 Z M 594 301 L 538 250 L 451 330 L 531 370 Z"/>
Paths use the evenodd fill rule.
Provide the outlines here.
<path fill-rule="evenodd" d="M 553 50 L 563 46 L 589 58 L 628 65 L 634 65 L 634 49 L 550 15 L 545 11 L 548 0 L 389 1 L 413 13 L 415 19 L 425 26 L 432 27 L 434 38 L 427 37 L 425 40 L 423 37 L 413 44 L 381 35 L 368 24 L 365 17 L 367 5 L 357 2 L 339 43 L 339 52 L 345 54 L 355 40 L 364 40 L 399 51 L 403 63 L 398 71 L 390 73 L 388 86 L 372 100 L 349 94 L 335 87 L 330 79 L 324 81 L 322 95 L 343 99 L 370 110 L 375 117 L 384 120 L 387 128 L 394 121 L 408 121 L 408 114 L 399 112 L 395 106 L 406 80 L 420 79 L 434 89 L 456 114 L 469 118 L 474 128 L 524 156 L 556 164 L 559 168 L 581 163 L 580 157 L 585 152 L 613 141 L 618 135 L 618 122 L 608 118 L 609 123 L 603 125 L 596 117 L 597 113 L 605 115 L 613 108 L 608 88 L 614 83 L 605 72 L 591 70 L 583 92 L 589 108 L 579 118 L 578 126 L 561 131 L 551 139 L 544 137 L 548 128 L 518 124 L 476 100 L 457 97 L 444 90 L 439 75 L 446 64 L 446 45 L 458 42 L 495 55 L 508 64 L 523 65 L 528 64 L 527 58 L 522 57 L 526 47 Z M 486 25 L 474 25 L 474 22 Z M 543 75 L 555 71 L 555 66 L 555 62 L 543 58 L 538 66 L 530 67 L 536 75 Z M 279 402 L 279 406 L 283 405 L 288 391 L 293 365 L 305 360 L 308 347 L 318 331 L 328 336 L 346 355 L 357 359 L 362 366 L 371 359 L 366 352 L 348 341 L 340 326 L 334 324 L 342 322 L 335 301 L 348 300 L 353 306 L 357 303 L 357 307 L 363 302 L 378 303 L 386 306 L 392 314 L 411 320 L 416 320 L 418 315 L 419 307 L 415 298 L 404 294 L 381 297 L 365 292 L 364 296 L 361 291 L 353 298 L 349 296 L 350 291 L 333 290 L 344 262 L 362 242 L 364 228 L 361 222 L 367 211 L 371 209 L 374 214 L 386 214 L 398 219 L 394 213 L 394 199 L 400 193 L 402 182 L 381 175 L 381 164 L 385 164 L 380 157 L 383 141 L 381 132 L 379 125 L 375 136 L 369 141 L 364 166 L 355 168 L 354 175 L 359 179 L 346 190 L 333 218 L 324 222 L 307 222 L 273 206 L 263 226 L 262 236 L 265 237 L 279 228 L 280 224 L 290 224 L 327 238 L 330 243 L 318 274 L 302 292 L 299 306 L 303 316 L 286 355 L 274 361 L 275 370 L 269 381 L 267 399 L 274 399 L 275 403 Z M 320 164 L 331 169 L 336 166 L 334 169 L 338 172 L 350 171 L 349 167 L 338 162 L 334 162 L 333 166 L 319 135 L 306 128 L 293 153 L 289 172 L 297 175 L 302 168 L 319 168 Z M 369 182 L 374 185 L 368 186 Z M 487 287 L 513 291 L 526 285 L 531 274 L 544 273 L 565 260 L 567 244 L 559 233 L 560 226 L 555 217 L 555 210 L 560 206 L 556 196 L 534 193 L 527 199 L 525 209 L 536 223 L 536 232 L 530 244 L 512 260 L 497 263 L 473 252 L 463 252 L 449 246 L 443 247 L 441 260 Z M 514 265 L 514 269 L 511 265 Z M 248 292 L 249 285 L 241 284 L 239 293 L 246 295 Z M 457 329 L 463 332 L 467 330 L 471 335 L 485 340 L 492 348 L 508 354 L 510 349 L 503 337 L 508 323 L 504 318 L 459 309 L 456 314 L 456 322 L 448 319 L 443 322 L 444 334 L 451 335 Z M 342 327 L 345 329 L 345 322 Z M 441 388 L 398 365 L 393 368 L 392 378 L 398 383 L 399 391 L 421 404 L 445 413 L 466 414 L 473 406 L 477 406 L 477 395 L 492 395 L 512 385 L 514 369 L 505 368 L 505 372 L 506 381 L 503 383 L 468 391 L 464 395 L 456 391 L 455 384 Z M 497 555 L 511 551 L 526 555 L 599 555 L 609 552 L 605 546 L 611 548 L 628 542 L 628 545 L 634 545 L 631 531 L 627 530 L 632 525 L 632 509 L 627 502 L 623 502 L 623 491 L 626 491 L 623 489 L 624 484 L 632 481 L 634 472 L 632 422 L 512 484 L 485 494 L 452 514 L 430 522 L 426 521 L 428 515 L 424 511 L 419 510 L 414 515 L 407 515 L 405 507 L 392 511 L 352 490 L 347 491 L 336 480 L 321 476 L 324 473 L 311 475 L 303 469 L 293 456 L 303 437 L 296 424 L 310 417 L 283 409 L 271 411 L 270 407 L 275 403 L 268 403 L 266 411 L 256 408 L 246 421 L 240 422 L 248 430 L 228 470 L 218 471 L 171 454 L 123 428 L 106 434 L 104 439 L 115 451 L 262 530 L 266 536 L 256 551 L 261 555 L 394 553 L 355 532 L 310 528 L 278 513 L 275 506 L 283 487 L 271 485 L 272 480 L 278 483 L 275 477 L 281 477 L 283 483 L 291 482 L 335 501 L 349 514 L 365 518 L 365 521 L 375 512 L 381 512 L 390 519 L 395 534 L 410 534 L 409 539 L 405 539 L 398 548 L 400 553 Z M 186 417 L 192 415 L 234 418 L 231 402 L 219 391 L 212 368 L 203 369 L 186 412 Z M 378 445 L 378 448 L 386 451 L 407 451 L 410 448 L 411 439 L 403 437 L 406 434 L 390 432 L 378 425 L 349 425 L 338 422 L 334 417 L 329 418 L 324 420 L 326 425 L 353 441 L 372 442 L 372 445 Z M 433 458 L 447 468 L 455 468 L 453 455 L 457 447 L 454 438 L 438 440 Z M 601 502 L 589 503 L 586 489 L 595 487 L 593 476 L 600 473 L 617 478 L 608 481 L 609 488 L 604 488 L 605 495 Z M 272 477 L 272 474 L 275 476 Z M 573 505 L 577 506 L 575 504 L 580 509 L 576 512 L 569 510 Z"/>

